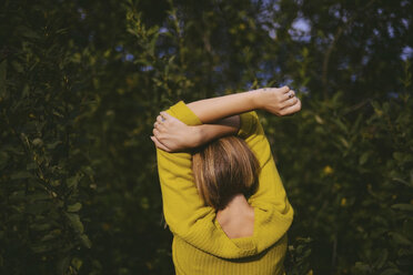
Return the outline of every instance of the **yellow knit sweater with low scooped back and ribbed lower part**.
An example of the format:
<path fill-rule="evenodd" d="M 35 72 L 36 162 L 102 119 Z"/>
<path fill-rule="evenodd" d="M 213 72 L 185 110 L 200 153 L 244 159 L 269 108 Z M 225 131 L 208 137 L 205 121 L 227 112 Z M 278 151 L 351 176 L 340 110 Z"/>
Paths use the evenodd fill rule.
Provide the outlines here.
<path fill-rule="evenodd" d="M 167 112 L 188 125 L 202 124 L 182 101 Z M 231 240 L 225 235 L 215 211 L 205 206 L 198 194 L 189 152 L 168 153 L 157 149 L 163 213 L 173 233 L 172 257 L 177 274 L 284 274 L 286 231 L 293 208 L 256 113 L 240 116 L 238 135 L 245 140 L 261 165 L 259 189 L 249 198 L 254 207 L 252 236 Z"/>

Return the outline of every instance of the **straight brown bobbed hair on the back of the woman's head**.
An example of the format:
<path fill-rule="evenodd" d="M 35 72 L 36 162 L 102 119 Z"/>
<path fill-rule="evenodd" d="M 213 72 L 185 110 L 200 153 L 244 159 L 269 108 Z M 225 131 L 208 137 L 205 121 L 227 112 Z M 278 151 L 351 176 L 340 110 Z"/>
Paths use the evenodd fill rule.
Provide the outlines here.
<path fill-rule="evenodd" d="M 199 147 L 192 171 L 205 204 L 223 210 L 234 195 L 248 198 L 255 192 L 260 164 L 242 139 L 230 135 Z"/>

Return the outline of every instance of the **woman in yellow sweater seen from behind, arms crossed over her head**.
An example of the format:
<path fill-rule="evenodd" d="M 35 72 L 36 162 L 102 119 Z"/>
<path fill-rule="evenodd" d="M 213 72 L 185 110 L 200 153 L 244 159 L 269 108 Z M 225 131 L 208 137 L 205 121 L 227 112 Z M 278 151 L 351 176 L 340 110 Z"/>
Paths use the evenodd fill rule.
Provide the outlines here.
<path fill-rule="evenodd" d="M 288 115 L 300 111 L 301 102 L 288 86 L 260 89 L 189 104 L 181 101 L 157 118 L 151 139 L 157 145 L 163 212 L 174 236 L 172 257 L 177 274 L 284 273 L 286 231 L 293 210 L 253 111 L 258 109 Z M 204 152 L 211 141 L 231 134 L 242 139 L 246 151 L 253 152 L 244 164 L 252 170 L 256 157 L 259 173 L 246 172 L 243 187 L 223 195 L 219 205 L 208 201 L 214 197 L 205 194 L 208 189 L 201 189 L 202 176 L 216 174 L 220 166 L 201 165 L 197 170 L 192 159 L 197 161 L 197 154 Z M 243 145 L 221 146 L 231 152 L 236 149 L 246 152 Z M 221 154 L 216 162 L 222 155 L 229 154 Z M 222 182 L 230 177 L 226 173 Z M 221 182 L 214 186 L 218 185 Z"/>

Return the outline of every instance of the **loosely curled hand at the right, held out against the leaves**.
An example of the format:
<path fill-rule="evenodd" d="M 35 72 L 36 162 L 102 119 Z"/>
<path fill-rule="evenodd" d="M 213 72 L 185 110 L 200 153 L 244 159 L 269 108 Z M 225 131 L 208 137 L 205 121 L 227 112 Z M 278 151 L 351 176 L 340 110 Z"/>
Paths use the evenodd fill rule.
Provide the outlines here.
<path fill-rule="evenodd" d="M 301 101 L 289 86 L 264 88 L 253 91 L 259 109 L 282 116 L 296 113 L 301 110 Z"/>

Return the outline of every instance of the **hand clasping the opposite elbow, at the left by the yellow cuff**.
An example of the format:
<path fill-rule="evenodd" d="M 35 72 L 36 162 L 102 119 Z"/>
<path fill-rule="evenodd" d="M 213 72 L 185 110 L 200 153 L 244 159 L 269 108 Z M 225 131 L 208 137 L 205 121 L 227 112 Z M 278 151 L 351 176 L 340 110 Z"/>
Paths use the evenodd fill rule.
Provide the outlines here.
<path fill-rule="evenodd" d="M 153 124 L 151 140 L 163 151 L 178 152 L 198 146 L 200 133 L 197 126 L 189 126 L 167 112 L 161 112 Z"/>

